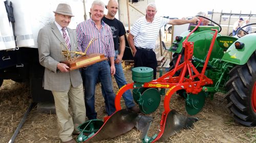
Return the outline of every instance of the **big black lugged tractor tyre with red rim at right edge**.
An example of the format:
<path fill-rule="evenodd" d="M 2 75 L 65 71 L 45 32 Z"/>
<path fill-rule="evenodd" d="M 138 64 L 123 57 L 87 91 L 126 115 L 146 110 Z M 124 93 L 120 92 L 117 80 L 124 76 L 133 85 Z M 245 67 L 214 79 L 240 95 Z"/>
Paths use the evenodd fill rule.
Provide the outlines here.
<path fill-rule="evenodd" d="M 225 98 L 234 120 L 244 126 L 256 126 L 256 52 L 245 65 L 229 72 Z"/>

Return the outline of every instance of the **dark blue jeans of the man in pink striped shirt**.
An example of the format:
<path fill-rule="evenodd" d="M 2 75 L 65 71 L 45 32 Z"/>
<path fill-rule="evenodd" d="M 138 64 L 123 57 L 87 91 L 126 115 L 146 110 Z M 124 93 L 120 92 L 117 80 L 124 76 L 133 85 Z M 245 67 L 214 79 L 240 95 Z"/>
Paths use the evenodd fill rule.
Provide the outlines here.
<path fill-rule="evenodd" d="M 103 97 L 105 100 L 106 113 L 110 116 L 115 112 L 115 94 L 108 61 L 102 61 L 82 68 L 82 76 L 85 84 L 84 100 L 88 119 L 97 119 L 97 113 L 95 111 L 95 87 L 98 78 L 101 81 L 101 89 L 105 93 Z"/>

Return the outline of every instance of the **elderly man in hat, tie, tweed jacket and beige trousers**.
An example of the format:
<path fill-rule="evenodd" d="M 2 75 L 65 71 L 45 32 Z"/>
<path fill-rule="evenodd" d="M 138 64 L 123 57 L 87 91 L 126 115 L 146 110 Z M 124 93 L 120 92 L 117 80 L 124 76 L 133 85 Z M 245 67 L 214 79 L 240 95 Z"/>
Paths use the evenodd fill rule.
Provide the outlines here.
<path fill-rule="evenodd" d="M 68 28 L 73 16 L 71 7 L 59 4 L 55 13 L 55 21 L 41 28 L 38 33 L 39 62 L 45 67 L 44 89 L 52 91 L 58 125 L 62 142 L 75 142 L 72 133 L 79 133 L 77 126 L 86 120 L 86 108 L 83 100 L 82 78 L 79 70 L 69 71 L 61 55 L 61 44 L 66 43 L 68 49 L 76 51 L 76 33 Z M 69 103 L 73 117 L 69 113 Z"/>

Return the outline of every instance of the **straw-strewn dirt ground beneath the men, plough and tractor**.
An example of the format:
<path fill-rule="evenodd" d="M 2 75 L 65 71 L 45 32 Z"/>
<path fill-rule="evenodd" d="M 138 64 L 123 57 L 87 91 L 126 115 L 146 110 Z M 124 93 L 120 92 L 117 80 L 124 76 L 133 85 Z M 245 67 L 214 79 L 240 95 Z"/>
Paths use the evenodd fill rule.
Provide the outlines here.
<path fill-rule="evenodd" d="M 128 83 L 133 82 L 131 66 L 132 64 L 130 66 L 124 66 L 124 73 Z M 114 78 L 113 83 L 114 92 L 116 93 L 118 87 Z M 103 113 L 104 101 L 100 84 L 96 87 L 95 95 L 98 119 L 102 119 L 106 115 Z M 161 97 L 159 108 L 150 115 L 147 115 L 154 119 L 148 133 L 149 135 L 158 134 L 159 132 L 161 113 L 163 111 L 163 98 L 164 97 Z M 10 140 L 31 102 L 30 91 L 26 83 L 4 80 L 0 88 L 0 143 L 5 143 Z M 226 104 L 227 101 L 224 99 L 224 94 L 222 93 L 215 94 L 214 100 L 207 98 L 202 111 L 194 116 L 199 118 L 194 128 L 182 130 L 169 137 L 165 142 L 256 142 L 256 128 L 244 127 L 235 123 L 226 108 Z M 121 100 L 121 105 L 125 108 L 123 100 Z M 176 109 L 183 115 L 187 115 L 185 111 L 185 101 L 178 95 L 172 97 L 170 107 Z M 114 124 L 113 126 L 117 125 Z M 141 142 L 140 135 L 141 132 L 134 128 L 116 138 L 99 142 Z M 76 136 L 74 136 L 74 138 L 76 138 Z M 15 142 L 61 142 L 58 137 L 56 115 L 38 112 L 37 106 L 33 107 L 25 124 L 22 129 L 20 129 Z"/>

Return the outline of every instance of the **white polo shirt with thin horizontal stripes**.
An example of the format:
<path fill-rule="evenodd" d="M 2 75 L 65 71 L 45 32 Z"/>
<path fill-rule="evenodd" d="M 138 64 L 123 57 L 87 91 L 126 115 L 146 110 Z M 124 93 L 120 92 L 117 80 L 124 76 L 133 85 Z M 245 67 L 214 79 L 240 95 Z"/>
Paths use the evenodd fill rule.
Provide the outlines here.
<path fill-rule="evenodd" d="M 146 16 L 139 18 L 132 27 L 134 45 L 140 48 L 155 49 L 159 30 L 169 22 L 168 18 L 154 17 L 152 23 L 146 21 Z"/>

